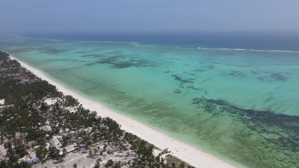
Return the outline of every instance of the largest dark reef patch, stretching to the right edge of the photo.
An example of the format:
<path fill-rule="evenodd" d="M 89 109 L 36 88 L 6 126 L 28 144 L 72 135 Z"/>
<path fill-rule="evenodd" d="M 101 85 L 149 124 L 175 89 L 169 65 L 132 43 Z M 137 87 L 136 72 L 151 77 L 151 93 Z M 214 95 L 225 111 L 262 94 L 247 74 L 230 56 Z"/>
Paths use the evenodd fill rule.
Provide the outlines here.
<path fill-rule="evenodd" d="M 264 140 L 260 143 L 266 142 L 273 150 L 299 152 L 299 116 L 243 109 L 220 99 L 194 98 L 192 101 L 198 108 L 214 116 L 229 115 L 244 123 L 247 128 L 261 135 L 260 138 Z"/>

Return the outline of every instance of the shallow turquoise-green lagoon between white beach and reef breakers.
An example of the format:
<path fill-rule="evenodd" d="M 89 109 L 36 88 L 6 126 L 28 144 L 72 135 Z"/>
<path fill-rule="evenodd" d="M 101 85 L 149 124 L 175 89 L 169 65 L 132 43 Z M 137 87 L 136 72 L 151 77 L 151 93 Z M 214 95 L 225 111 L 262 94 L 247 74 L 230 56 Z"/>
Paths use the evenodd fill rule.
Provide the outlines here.
<path fill-rule="evenodd" d="M 299 166 L 299 52 L 12 35 L 0 50 L 239 166 Z"/>

